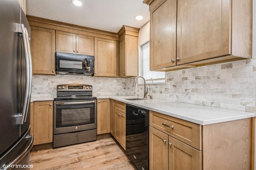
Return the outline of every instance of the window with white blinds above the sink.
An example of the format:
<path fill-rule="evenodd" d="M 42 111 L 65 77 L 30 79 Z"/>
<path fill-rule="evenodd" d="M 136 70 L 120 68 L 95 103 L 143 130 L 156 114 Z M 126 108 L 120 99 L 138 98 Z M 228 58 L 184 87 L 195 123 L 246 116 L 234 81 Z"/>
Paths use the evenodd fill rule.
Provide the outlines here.
<path fill-rule="evenodd" d="M 149 70 L 149 42 L 145 43 L 142 47 L 142 76 L 146 79 L 147 83 L 164 83 L 165 72 L 150 71 Z"/>

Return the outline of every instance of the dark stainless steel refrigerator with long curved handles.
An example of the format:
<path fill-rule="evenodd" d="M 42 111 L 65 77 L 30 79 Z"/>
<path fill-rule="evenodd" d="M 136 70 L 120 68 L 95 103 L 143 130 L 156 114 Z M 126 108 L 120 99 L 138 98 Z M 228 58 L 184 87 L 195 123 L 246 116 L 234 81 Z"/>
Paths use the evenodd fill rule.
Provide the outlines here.
<path fill-rule="evenodd" d="M 30 26 L 17 0 L 0 0 L 0 169 L 30 169 Z"/>

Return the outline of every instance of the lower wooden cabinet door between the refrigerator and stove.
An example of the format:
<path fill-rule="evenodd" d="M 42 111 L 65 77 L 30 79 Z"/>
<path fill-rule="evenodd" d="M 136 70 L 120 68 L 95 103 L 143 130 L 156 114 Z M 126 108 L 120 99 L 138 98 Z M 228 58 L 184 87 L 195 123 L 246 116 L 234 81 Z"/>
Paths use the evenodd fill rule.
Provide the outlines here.
<path fill-rule="evenodd" d="M 52 142 L 52 101 L 34 102 L 34 144 Z"/>

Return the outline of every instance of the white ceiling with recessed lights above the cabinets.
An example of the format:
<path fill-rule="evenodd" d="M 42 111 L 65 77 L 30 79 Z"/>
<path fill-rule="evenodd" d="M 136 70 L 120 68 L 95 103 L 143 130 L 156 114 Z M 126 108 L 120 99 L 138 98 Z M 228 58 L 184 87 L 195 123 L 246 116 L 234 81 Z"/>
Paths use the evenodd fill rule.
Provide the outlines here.
<path fill-rule="evenodd" d="M 99 30 L 118 32 L 123 26 L 141 28 L 150 20 L 143 0 L 82 0 L 74 6 L 71 0 L 27 0 L 27 15 L 76 24 Z M 142 15 L 140 21 L 134 16 Z"/>

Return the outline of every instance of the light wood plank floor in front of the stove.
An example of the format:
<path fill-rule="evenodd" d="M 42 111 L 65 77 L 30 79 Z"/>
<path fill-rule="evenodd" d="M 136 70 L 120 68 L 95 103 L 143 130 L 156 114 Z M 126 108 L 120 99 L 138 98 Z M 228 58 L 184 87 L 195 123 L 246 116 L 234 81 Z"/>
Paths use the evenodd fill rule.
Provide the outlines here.
<path fill-rule="evenodd" d="M 135 170 L 112 137 L 96 141 L 32 151 L 32 170 Z"/>

